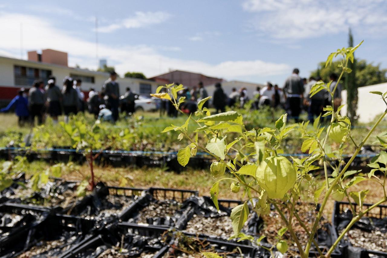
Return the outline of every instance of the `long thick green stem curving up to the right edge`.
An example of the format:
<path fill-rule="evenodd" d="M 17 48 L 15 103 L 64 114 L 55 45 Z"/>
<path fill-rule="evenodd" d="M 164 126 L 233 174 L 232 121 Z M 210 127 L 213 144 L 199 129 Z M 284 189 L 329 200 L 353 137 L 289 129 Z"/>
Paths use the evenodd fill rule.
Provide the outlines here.
<path fill-rule="evenodd" d="M 349 159 L 349 161 L 346 163 L 346 165 L 344 166 L 344 168 L 341 170 L 340 174 L 337 175 L 337 177 L 334 179 L 334 181 L 332 182 L 332 184 L 330 185 L 330 187 L 328 188 L 327 192 L 325 193 L 325 197 L 324 197 L 324 200 L 321 204 L 321 208 L 320 208 L 320 211 L 319 213 L 317 214 L 317 218 L 316 218 L 316 221 L 313 225 L 313 228 L 312 228 L 312 232 L 311 232 L 311 236 L 314 236 L 316 230 L 317 230 L 317 226 L 319 225 L 319 220 L 320 218 L 322 217 L 322 213 L 324 211 L 324 208 L 325 208 L 325 205 L 327 204 L 327 201 L 328 201 L 328 198 L 330 196 L 330 193 L 332 193 L 333 191 L 333 187 L 337 184 L 337 182 L 339 181 L 339 179 L 342 177 L 342 175 L 344 175 L 344 173 L 347 171 L 349 165 L 351 165 L 351 163 L 353 162 L 354 158 L 356 157 L 356 155 L 358 155 L 360 149 L 363 147 L 363 145 L 366 143 L 366 141 L 368 140 L 368 138 L 371 136 L 372 132 L 375 130 L 375 128 L 378 126 L 378 124 L 383 120 L 383 118 L 385 117 L 385 115 L 387 114 L 387 109 L 384 111 L 384 113 L 379 117 L 379 119 L 377 120 L 377 122 L 373 125 L 373 127 L 371 128 L 371 130 L 368 132 L 368 134 L 365 136 L 365 138 L 363 139 L 363 141 L 361 141 L 361 143 L 359 144 L 358 148 L 356 148 L 355 152 L 353 153 L 352 157 Z M 340 241 L 341 238 L 339 238 L 338 240 Z M 338 243 L 338 242 L 337 242 Z M 336 245 L 337 245 L 336 243 Z M 309 239 L 308 243 L 307 243 L 307 247 L 305 248 L 305 252 L 306 254 L 308 255 L 309 254 L 309 250 L 310 250 L 310 247 L 311 247 L 311 244 L 312 244 L 312 239 Z M 335 248 L 336 246 L 332 246 L 333 248 Z"/>

